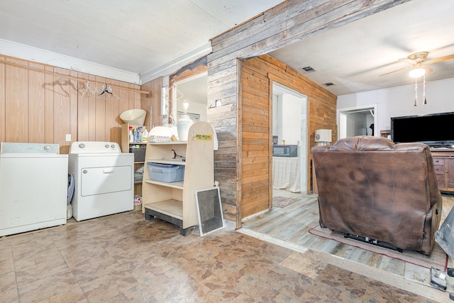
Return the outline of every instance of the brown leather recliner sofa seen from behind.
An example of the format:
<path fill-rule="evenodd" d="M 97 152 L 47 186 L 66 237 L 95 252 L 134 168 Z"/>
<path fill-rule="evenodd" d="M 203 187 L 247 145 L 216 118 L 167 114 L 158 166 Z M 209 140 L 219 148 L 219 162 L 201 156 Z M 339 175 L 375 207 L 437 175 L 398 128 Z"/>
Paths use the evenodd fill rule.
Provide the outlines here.
<path fill-rule="evenodd" d="M 427 145 L 358 136 L 316 146 L 312 158 L 322 228 L 430 255 L 442 199 Z"/>

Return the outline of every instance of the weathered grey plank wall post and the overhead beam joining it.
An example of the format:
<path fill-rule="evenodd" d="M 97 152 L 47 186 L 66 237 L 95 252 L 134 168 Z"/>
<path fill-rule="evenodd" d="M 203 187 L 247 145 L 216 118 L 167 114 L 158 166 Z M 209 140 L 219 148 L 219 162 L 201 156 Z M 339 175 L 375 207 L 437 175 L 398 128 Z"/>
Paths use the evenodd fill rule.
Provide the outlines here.
<path fill-rule="evenodd" d="M 265 55 L 311 35 L 337 28 L 410 0 L 287 0 L 211 39 L 208 116 L 216 129 L 215 180 L 220 182 L 224 217 L 241 227 L 240 59 Z M 222 106 L 216 107 L 216 100 Z M 321 109 L 312 109 L 309 115 Z M 319 113 L 318 116 L 323 116 Z"/>

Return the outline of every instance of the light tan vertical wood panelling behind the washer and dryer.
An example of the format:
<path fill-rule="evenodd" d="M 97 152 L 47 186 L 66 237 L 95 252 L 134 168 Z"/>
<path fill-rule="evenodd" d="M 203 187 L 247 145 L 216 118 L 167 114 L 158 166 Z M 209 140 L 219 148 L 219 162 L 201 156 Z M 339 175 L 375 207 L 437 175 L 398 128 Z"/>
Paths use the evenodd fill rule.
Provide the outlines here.
<path fill-rule="evenodd" d="M 110 84 L 112 93 L 118 98 L 107 94 L 82 97 L 87 82 L 48 75 L 39 70 L 89 79 L 92 89 L 95 83 L 98 90 L 102 84 Z M 159 80 L 155 82 L 162 87 Z M 146 88 L 155 89 L 153 83 Z M 72 141 L 120 143 L 123 121 L 119 115 L 123 111 L 140 108 L 149 111 L 155 99 L 156 106 L 160 104 L 160 89 L 145 96 L 128 89 L 140 89 L 140 86 L 0 55 L 0 141 L 58 143 L 60 153 L 70 150 L 71 142 L 66 142 L 66 134 L 71 135 Z"/>

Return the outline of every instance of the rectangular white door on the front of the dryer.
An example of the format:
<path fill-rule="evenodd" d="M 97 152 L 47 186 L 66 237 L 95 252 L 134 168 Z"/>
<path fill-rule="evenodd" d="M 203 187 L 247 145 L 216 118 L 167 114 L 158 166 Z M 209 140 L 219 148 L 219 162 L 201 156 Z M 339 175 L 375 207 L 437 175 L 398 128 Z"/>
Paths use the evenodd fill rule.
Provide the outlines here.
<path fill-rule="evenodd" d="M 82 197 L 122 192 L 133 186 L 131 166 L 86 167 L 80 171 L 80 178 Z"/>

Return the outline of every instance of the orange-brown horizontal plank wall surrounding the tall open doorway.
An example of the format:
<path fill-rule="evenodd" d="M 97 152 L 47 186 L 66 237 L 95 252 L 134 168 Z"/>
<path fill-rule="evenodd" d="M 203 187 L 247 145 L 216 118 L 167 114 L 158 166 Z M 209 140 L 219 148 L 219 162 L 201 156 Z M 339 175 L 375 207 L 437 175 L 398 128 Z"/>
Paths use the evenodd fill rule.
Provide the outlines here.
<path fill-rule="evenodd" d="M 272 126 L 270 124 L 272 83 L 277 82 L 308 97 L 309 151 L 316 144 L 316 129 L 328 128 L 336 138 L 337 97 L 282 62 L 268 55 L 245 60 L 241 68 L 241 213 L 242 218 L 267 209 L 272 199 Z M 261 165 L 258 165 L 258 164 Z M 307 192 L 311 191 L 311 153 Z"/>

